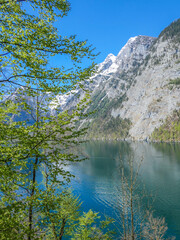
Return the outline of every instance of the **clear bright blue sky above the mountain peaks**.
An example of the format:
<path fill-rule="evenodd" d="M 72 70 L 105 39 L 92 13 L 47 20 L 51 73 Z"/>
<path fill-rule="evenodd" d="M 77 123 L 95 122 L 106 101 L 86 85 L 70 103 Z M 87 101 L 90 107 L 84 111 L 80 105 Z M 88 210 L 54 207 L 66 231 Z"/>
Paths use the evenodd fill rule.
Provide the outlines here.
<path fill-rule="evenodd" d="M 70 3 L 68 16 L 56 24 L 59 33 L 88 39 L 100 52 L 97 63 L 109 53 L 117 55 L 130 37 L 158 37 L 166 26 L 180 18 L 180 0 L 70 0 Z"/>

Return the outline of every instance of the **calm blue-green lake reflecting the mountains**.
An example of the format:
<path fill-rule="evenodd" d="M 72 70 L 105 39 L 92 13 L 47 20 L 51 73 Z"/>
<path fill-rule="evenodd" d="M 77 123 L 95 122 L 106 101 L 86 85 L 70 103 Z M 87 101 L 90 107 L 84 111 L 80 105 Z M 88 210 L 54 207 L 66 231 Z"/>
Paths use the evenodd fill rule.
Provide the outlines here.
<path fill-rule="evenodd" d="M 128 159 L 133 159 L 136 172 L 143 158 L 137 179 L 139 186 L 145 186 L 148 196 L 153 195 L 152 209 L 155 216 L 165 217 L 168 235 L 180 239 L 179 143 L 92 141 L 84 144 L 81 151 L 89 159 L 71 166 L 76 176 L 71 185 L 83 201 L 83 211 L 92 209 L 119 219 L 121 163 L 126 169 Z M 138 194 L 142 194 L 141 189 Z"/>

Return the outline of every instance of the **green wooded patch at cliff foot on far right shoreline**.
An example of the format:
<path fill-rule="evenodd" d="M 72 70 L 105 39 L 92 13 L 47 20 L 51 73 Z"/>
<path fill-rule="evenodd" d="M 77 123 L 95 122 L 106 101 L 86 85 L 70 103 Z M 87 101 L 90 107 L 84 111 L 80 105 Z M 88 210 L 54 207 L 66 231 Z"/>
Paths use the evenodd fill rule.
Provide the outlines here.
<path fill-rule="evenodd" d="M 164 124 L 156 128 L 151 136 L 155 141 L 180 141 L 180 111 L 175 110 Z"/>

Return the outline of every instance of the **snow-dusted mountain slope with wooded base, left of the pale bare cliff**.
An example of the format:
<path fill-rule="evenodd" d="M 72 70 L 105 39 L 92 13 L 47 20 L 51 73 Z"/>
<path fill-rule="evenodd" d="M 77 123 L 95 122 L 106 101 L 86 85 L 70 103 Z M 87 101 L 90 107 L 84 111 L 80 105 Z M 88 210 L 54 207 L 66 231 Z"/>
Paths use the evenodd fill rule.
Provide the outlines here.
<path fill-rule="evenodd" d="M 108 55 L 99 65 L 99 73 L 93 77 L 96 82 L 92 92 L 89 111 L 96 111 L 88 124 L 89 137 L 126 138 L 131 122 L 111 114 L 112 109 L 122 107 L 127 100 L 126 93 L 135 82 L 137 74 L 148 54 L 154 38 L 137 36 L 130 38 L 117 57 Z"/>

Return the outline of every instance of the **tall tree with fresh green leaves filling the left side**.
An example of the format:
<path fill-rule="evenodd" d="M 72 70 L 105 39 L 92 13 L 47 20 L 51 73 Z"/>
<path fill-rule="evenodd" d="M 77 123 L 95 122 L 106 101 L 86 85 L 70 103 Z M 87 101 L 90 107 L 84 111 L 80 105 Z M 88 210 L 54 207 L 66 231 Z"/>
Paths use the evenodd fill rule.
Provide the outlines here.
<path fill-rule="evenodd" d="M 66 0 L 0 0 L 1 239 L 41 237 L 48 189 L 63 196 L 60 186 L 72 176 L 65 166 L 80 159 L 73 147 L 85 130 L 75 124 L 85 116 L 87 94 L 71 111 L 57 108 L 51 115 L 47 109 L 57 94 L 77 87 L 86 92 L 95 67 L 81 68 L 84 58 L 95 57 L 87 41 L 63 37 L 54 26 L 69 10 Z M 67 55 L 72 68 L 51 67 L 56 54 Z M 46 186 L 38 179 L 43 172 Z"/>

